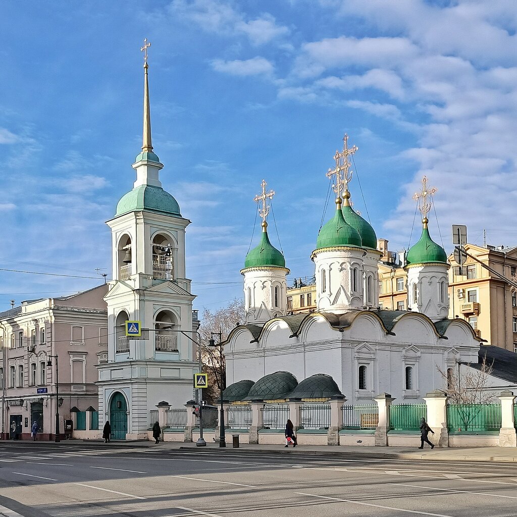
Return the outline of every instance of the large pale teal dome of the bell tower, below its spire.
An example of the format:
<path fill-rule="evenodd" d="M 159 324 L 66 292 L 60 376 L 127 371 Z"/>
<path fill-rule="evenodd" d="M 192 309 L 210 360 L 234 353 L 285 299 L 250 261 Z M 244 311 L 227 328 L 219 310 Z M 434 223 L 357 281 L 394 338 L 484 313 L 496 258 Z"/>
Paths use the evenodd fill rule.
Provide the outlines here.
<path fill-rule="evenodd" d="M 174 216 L 181 216 L 179 205 L 174 197 L 165 192 L 161 187 L 153 185 L 140 185 L 124 194 L 117 203 L 117 216 L 127 212 L 151 210 L 163 212 Z"/>

